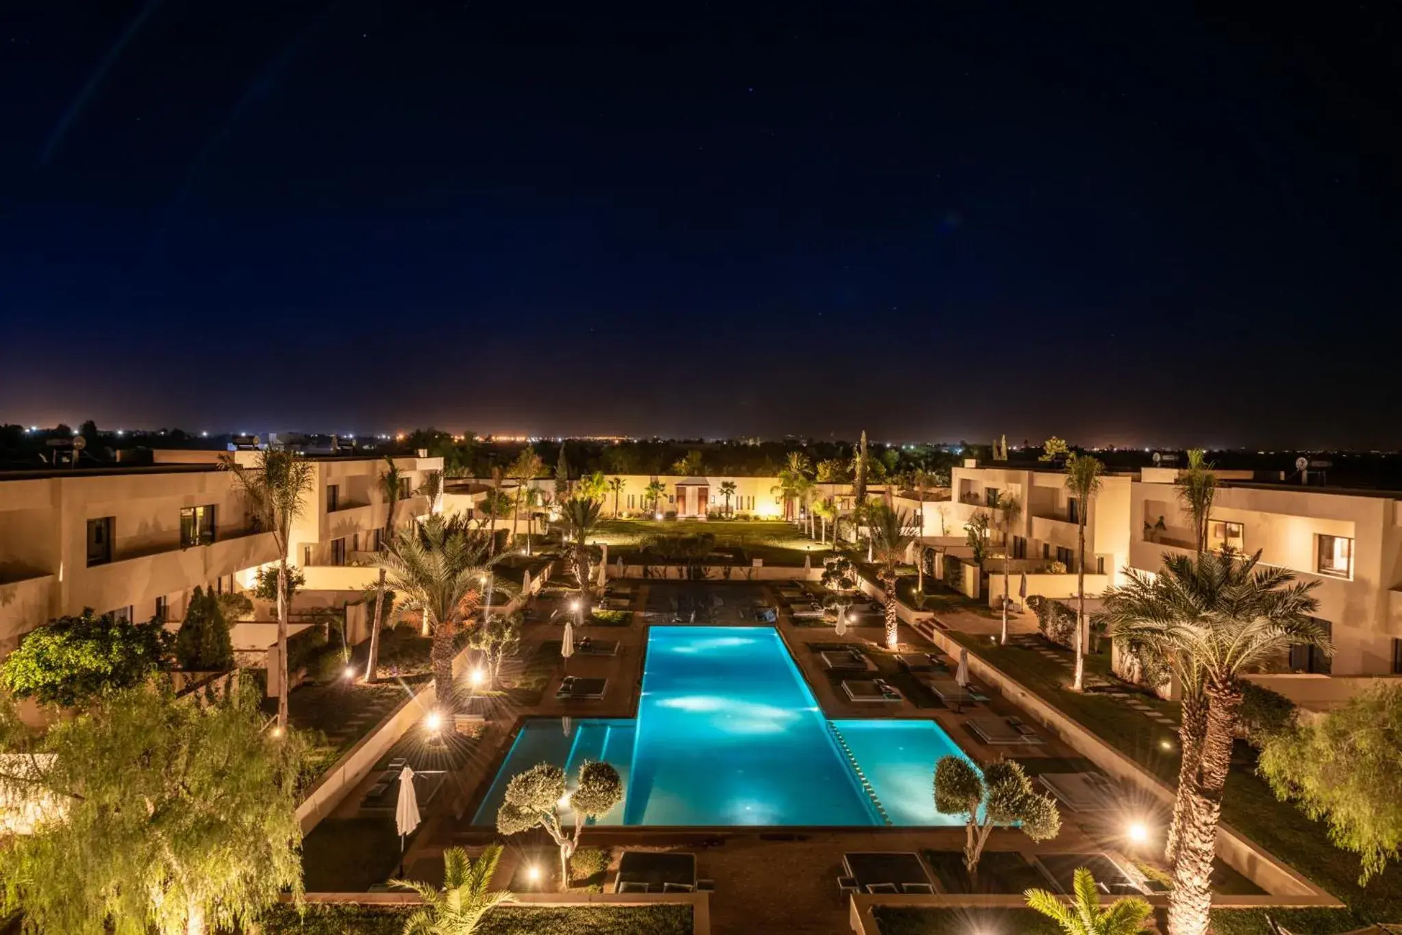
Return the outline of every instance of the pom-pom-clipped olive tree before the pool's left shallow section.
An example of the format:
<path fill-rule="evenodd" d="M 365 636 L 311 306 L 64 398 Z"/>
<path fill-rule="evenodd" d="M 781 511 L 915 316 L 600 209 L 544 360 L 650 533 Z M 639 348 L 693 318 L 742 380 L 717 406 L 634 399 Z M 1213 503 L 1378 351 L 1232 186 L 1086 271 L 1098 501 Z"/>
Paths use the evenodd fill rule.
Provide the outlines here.
<path fill-rule="evenodd" d="M 585 763 L 579 768 L 579 788 L 566 795 L 565 771 L 540 763 L 512 778 L 506 785 L 502 807 L 496 810 L 496 830 L 520 834 L 543 827 L 559 847 L 559 889 L 569 889 L 569 858 L 579 847 L 579 835 L 590 819 L 600 819 L 622 800 L 622 779 L 607 763 Z M 559 813 L 575 813 L 573 834 L 559 820 Z"/>

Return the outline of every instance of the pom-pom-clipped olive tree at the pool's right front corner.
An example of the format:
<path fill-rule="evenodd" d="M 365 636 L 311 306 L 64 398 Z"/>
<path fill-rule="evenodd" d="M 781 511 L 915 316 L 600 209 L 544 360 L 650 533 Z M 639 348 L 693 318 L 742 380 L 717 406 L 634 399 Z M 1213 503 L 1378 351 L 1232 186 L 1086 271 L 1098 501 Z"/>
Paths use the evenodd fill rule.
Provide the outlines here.
<path fill-rule="evenodd" d="M 1016 824 L 1033 841 L 1049 841 L 1061 831 L 1056 802 L 1039 795 L 1014 760 L 991 763 L 980 775 L 963 757 L 941 757 L 935 763 L 935 810 L 963 817 L 970 879 L 977 878 L 979 858 L 995 826 Z"/>

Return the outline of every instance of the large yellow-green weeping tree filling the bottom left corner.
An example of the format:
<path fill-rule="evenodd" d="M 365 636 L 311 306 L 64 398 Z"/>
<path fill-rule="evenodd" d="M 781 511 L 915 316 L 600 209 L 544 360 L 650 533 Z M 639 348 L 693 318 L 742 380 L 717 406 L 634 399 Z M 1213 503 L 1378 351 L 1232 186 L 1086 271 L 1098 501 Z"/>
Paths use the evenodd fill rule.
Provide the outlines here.
<path fill-rule="evenodd" d="M 251 685 L 210 705 L 128 688 L 31 739 L 0 712 L 0 793 L 52 803 L 0 848 L 0 913 L 28 931 L 200 935 L 301 894 L 306 746 Z M 25 754 L 34 754 L 25 756 Z"/>

